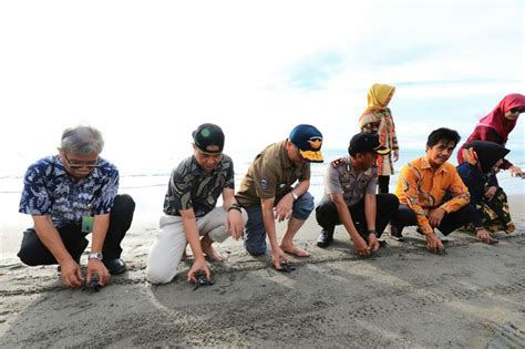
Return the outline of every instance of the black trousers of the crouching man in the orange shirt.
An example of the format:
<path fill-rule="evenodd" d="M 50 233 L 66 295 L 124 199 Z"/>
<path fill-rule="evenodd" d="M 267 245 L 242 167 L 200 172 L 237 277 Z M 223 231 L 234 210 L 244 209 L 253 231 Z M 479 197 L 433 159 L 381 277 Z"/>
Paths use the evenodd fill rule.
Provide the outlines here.
<path fill-rule="evenodd" d="M 459 227 L 462 227 L 471 223 L 476 214 L 476 209 L 472 205 L 463 206 L 456 212 L 446 214 L 441 220 L 440 229 L 443 235 L 449 235 Z M 405 226 L 418 225 L 418 219 L 415 217 L 415 212 L 410 208 L 408 205 L 399 205 L 399 209 L 393 215 L 391 224 L 398 228 L 398 233 L 401 234 Z"/>

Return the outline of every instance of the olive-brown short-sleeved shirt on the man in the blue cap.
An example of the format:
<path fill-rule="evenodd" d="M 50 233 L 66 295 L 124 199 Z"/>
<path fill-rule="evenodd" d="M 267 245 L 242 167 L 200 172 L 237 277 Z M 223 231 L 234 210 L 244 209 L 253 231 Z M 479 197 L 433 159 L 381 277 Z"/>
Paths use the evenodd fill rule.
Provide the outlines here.
<path fill-rule="evenodd" d="M 235 196 L 243 206 L 259 205 L 261 198 L 276 203 L 292 189 L 297 181 L 310 179 L 310 163 L 295 167 L 286 152 L 286 141 L 267 146 L 256 156 Z"/>

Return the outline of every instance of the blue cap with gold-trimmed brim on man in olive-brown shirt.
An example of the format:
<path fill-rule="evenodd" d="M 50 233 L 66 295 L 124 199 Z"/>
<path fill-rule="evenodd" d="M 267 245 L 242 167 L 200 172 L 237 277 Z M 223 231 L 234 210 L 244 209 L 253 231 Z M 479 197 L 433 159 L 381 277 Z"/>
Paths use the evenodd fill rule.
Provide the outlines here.
<path fill-rule="evenodd" d="M 288 140 L 299 148 L 302 158 L 310 163 L 322 163 L 322 134 L 312 125 L 297 125 Z"/>

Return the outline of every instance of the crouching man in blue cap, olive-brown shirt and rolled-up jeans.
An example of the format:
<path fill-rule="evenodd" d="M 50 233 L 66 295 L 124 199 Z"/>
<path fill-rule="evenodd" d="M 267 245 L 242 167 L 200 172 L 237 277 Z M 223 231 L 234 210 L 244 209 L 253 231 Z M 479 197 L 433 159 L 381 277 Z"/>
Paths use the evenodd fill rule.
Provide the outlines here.
<path fill-rule="evenodd" d="M 294 236 L 313 211 L 310 163 L 321 163 L 322 134 L 315 126 L 296 126 L 287 140 L 267 146 L 258 154 L 240 183 L 236 197 L 248 213 L 245 247 L 253 256 L 266 253 L 266 236 L 277 270 L 288 263 L 285 253 L 297 257 L 310 254 L 294 245 Z M 275 219 L 288 220 L 280 244 Z"/>

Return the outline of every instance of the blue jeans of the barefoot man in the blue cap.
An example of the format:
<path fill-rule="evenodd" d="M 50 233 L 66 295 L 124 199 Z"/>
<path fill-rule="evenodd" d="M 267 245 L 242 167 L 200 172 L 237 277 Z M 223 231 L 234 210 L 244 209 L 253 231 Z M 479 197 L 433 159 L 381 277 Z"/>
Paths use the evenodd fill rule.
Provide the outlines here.
<path fill-rule="evenodd" d="M 305 193 L 297 198 L 292 207 L 292 216 L 300 220 L 306 220 L 313 211 L 313 196 Z M 248 213 L 246 223 L 245 247 L 253 256 L 266 254 L 266 229 L 262 220 L 262 209 L 260 205 L 244 207 Z"/>

